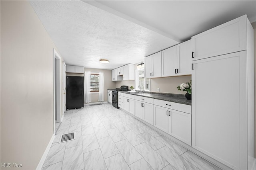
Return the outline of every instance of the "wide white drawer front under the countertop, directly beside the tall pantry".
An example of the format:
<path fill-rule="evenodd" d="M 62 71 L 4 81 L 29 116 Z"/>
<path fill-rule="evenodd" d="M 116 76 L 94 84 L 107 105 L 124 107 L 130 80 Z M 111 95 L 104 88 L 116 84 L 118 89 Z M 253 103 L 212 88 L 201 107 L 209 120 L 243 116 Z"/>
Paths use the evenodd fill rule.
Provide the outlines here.
<path fill-rule="evenodd" d="M 168 102 L 164 100 L 154 99 L 154 105 L 166 107 L 191 114 L 191 106 L 186 104 L 180 104 L 175 102 Z"/>

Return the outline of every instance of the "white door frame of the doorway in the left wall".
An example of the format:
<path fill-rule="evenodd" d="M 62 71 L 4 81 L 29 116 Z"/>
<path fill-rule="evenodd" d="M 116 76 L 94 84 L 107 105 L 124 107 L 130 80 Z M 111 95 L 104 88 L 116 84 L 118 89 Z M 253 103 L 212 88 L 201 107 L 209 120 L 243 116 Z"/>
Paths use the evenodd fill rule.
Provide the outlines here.
<path fill-rule="evenodd" d="M 56 96 L 55 96 L 55 59 L 56 59 Z M 61 121 L 61 106 L 60 106 L 60 99 L 61 99 L 61 80 L 60 80 L 60 55 L 57 51 L 53 48 L 53 124 L 54 124 L 54 134 L 55 134 L 55 98 L 56 98 L 56 110 L 57 110 L 57 117 L 56 121 Z"/>

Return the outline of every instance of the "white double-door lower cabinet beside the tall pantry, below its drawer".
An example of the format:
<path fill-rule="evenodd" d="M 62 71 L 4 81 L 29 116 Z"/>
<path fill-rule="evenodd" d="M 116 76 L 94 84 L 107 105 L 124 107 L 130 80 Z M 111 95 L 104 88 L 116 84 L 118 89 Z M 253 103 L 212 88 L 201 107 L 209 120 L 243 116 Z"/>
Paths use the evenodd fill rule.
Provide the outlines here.
<path fill-rule="evenodd" d="M 154 126 L 191 146 L 191 114 L 154 105 Z"/>

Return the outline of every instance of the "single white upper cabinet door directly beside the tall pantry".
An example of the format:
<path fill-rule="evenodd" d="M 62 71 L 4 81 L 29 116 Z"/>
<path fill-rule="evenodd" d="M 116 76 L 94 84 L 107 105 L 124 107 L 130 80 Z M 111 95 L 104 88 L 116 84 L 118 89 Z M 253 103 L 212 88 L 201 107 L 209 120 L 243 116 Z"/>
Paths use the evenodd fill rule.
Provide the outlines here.
<path fill-rule="evenodd" d="M 177 45 L 177 76 L 192 73 L 192 41 L 191 39 Z"/>

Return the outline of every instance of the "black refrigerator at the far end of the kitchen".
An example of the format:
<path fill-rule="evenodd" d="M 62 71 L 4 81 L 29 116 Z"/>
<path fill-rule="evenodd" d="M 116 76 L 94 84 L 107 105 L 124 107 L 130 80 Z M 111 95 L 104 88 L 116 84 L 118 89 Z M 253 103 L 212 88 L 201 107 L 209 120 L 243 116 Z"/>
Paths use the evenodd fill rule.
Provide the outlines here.
<path fill-rule="evenodd" d="M 84 107 L 84 77 L 66 76 L 66 110 Z"/>

